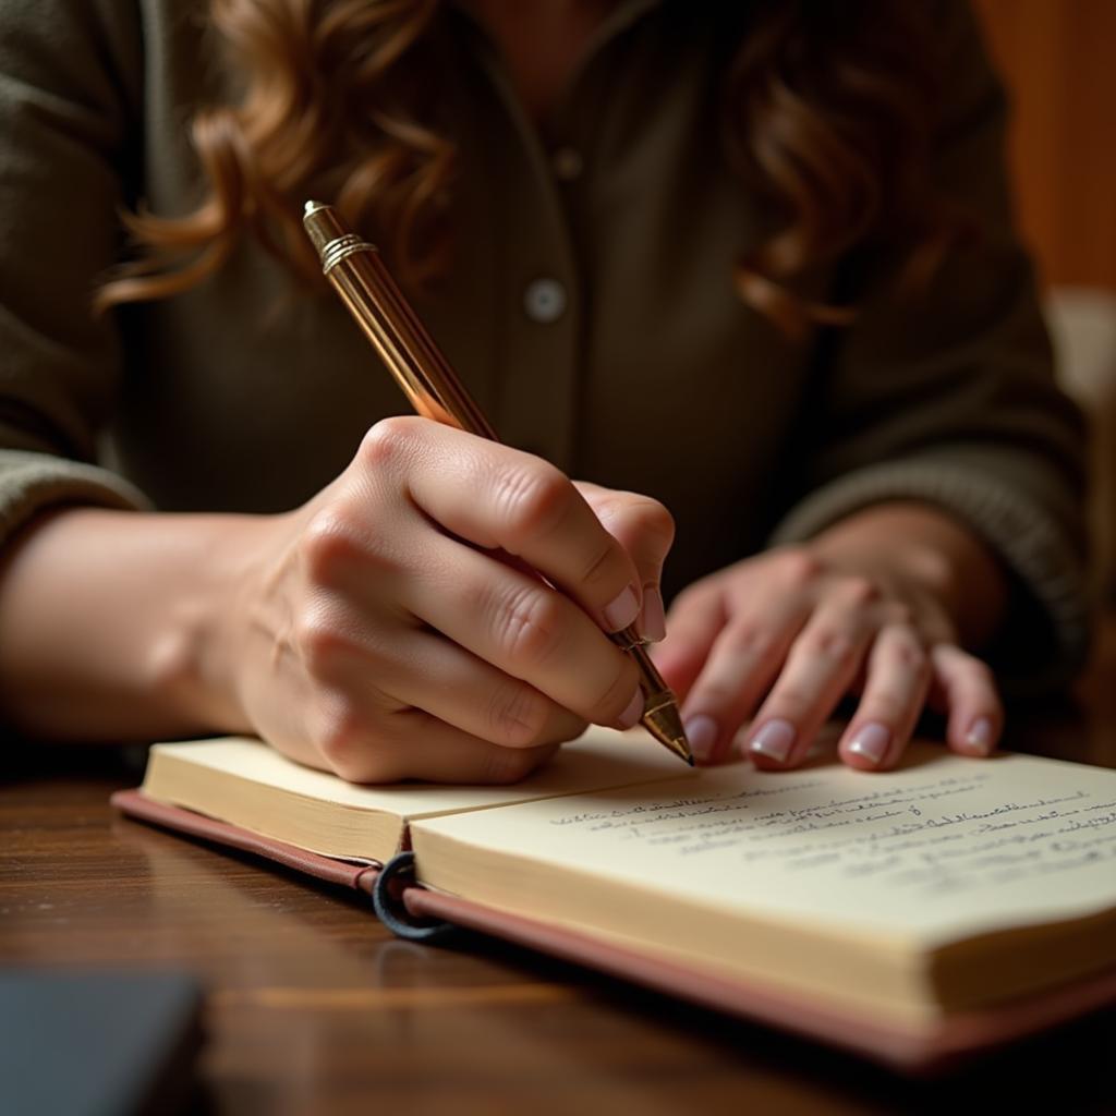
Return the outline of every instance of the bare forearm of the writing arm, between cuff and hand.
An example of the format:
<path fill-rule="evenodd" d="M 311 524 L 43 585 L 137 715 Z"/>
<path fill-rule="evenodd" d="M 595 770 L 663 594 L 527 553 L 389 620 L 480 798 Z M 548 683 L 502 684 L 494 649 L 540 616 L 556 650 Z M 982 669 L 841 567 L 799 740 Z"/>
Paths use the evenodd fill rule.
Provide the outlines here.
<path fill-rule="evenodd" d="M 241 731 L 218 637 L 259 520 L 71 508 L 0 561 L 0 716 L 29 735 Z"/>

